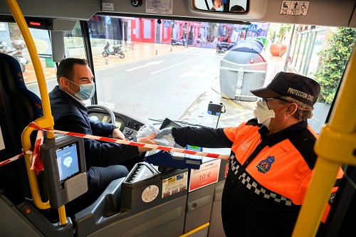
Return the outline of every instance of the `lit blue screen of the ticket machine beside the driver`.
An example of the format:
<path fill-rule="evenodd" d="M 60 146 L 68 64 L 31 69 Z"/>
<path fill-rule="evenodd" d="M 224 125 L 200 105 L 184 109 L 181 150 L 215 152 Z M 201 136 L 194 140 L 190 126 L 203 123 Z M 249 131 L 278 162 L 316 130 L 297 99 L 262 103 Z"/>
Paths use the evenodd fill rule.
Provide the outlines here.
<path fill-rule="evenodd" d="M 61 181 L 79 173 L 77 143 L 74 142 L 56 150 L 59 179 Z"/>

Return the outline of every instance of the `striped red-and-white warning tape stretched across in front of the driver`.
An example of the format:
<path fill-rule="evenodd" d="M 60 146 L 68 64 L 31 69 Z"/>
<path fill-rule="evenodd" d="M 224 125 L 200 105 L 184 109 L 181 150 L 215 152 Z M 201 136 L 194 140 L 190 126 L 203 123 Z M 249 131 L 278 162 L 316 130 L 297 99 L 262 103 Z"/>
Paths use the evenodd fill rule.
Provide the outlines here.
<path fill-rule="evenodd" d="M 192 150 L 189 150 L 189 149 L 180 149 L 180 148 L 177 148 L 177 147 L 164 147 L 164 146 L 160 146 L 160 145 L 156 145 L 156 144 L 147 144 L 147 143 L 141 143 L 141 142 L 130 142 L 130 141 L 125 141 L 125 140 L 115 139 L 115 138 L 110 138 L 110 137 L 99 137 L 99 136 L 94 136 L 94 135 L 85 135 L 83 133 L 78 133 L 78 132 L 63 132 L 61 130 L 49 130 L 49 129 L 38 127 L 34 122 L 31 122 L 28 125 L 28 127 L 35 128 L 36 130 L 43 130 L 43 131 L 47 131 L 47 132 L 55 132 L 55 133 L 60 133 L 60 134 L 63 134 L 63 135 L 69 135 L 69 136 L 73 136 L 73 137 L 83 137 L 83 138 L 95 139 L 95 140 L 99 140 L 99 141 L 103 141 L 103 142 L 115 142 L 115 143 L 118 143 L 118 144 L 128 144 L 130 146 L 135 146 L 135 147 L 147 147 L 147 148 L 151 148 L 151 149 L 161 149 L 161 150 L 164 150 L 164 151 L 167 151 L 167 152 L 178 152 L 178 153 L 183 153 L 183 154 L 194 154 L 194 155 L 201 156 L 201 157 L 210 157 L 210 158 L 216 158 L 216 159 L 230 159 L 229 156 L 224 155 L 224 154 L 214 154 L 214 153 L 209 153 L 209 152 L 197 152 L 197 151 L 192 151 Z M 39 139 L 36 139 L 36 146 L 39 147 L 38 140 Z M 37 151 L 36 148 L 37 147 L 35 147 L 35 151 Z M 31 151 L 28 151 L 28 152 L 31 152 Z M 7 164 L 9 162 L 13 162 L 16 159 L 19 159 L 22 155 L 23 154 L 19 154 L 16 157 L 12 157 L 10 159 L 6 159 L 4 162 L 0 162 L 0 167 L 2 165 L 4 165 L 4 164 Z M 33 160 L 32 164 L 33 163 L 34 163 L 34 160 Z"/>

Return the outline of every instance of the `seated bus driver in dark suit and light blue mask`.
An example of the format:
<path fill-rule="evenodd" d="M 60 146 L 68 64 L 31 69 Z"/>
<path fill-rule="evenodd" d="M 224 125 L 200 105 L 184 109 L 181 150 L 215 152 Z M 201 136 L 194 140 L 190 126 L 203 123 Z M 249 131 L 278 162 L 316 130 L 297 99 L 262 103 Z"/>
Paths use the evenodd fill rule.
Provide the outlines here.
<path fill-rule="evenodd" d="M 88 100 L 95 93 L 93 73 L 86 60 L 66 58 L 61 61 L 57 70 L 55 88 L 49 93 L 51 111 L 54 118 L 54 128 L 67 132 L 78 132 L 86 135 L 97 135 L 125 139 L 125 136 L 114 125 L 90 120 L 88 108 L 83 100 Z M 151 141 L 152 137 L 144 137 L 137 142 Z M 119 165 L 147 148 L 122 145 L 113 142 L 99 142 L 94 139 L 84 139 L 85 162 L 88 176 L 88 193 L 100 194 L 114 179 L 125 177 L 128 170 Z M 94 195 L 96 196 L 96 195 Z"/>

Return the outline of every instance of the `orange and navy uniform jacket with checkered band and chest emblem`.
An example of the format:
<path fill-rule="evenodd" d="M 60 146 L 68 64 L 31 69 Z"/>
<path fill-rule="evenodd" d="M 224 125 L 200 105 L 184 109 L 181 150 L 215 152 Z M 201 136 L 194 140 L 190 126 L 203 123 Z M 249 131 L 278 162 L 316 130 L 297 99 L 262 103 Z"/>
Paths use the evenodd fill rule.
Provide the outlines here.
<path fill-rule="evenodd" d="M 306 120 L 271 135 L 256 118 L 224 129 L 172 128 L 172 135 L 182 146 L 231 147 L 221 206 L 226 236 L 291 236 L 317 158 L 318 135 Z"/>

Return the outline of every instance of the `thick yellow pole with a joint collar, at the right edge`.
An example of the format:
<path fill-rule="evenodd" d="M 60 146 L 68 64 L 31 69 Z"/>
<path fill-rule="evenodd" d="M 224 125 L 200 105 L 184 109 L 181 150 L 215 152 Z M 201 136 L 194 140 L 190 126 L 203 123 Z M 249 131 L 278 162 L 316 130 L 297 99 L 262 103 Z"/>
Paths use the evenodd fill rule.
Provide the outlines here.
<path fill-rule="evenodd" d="M 337 170 L 341 164 L 356 165 L 356 106 L 353 100 L 356 91 L 355 75 L 354 47 L 330 123 L 323 126 L 315 144 L 318 160 L 295 224 L 293 237 L 315 236 L 335 184 Z"/>

